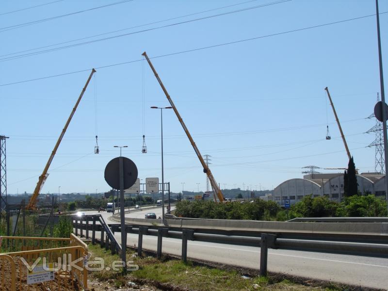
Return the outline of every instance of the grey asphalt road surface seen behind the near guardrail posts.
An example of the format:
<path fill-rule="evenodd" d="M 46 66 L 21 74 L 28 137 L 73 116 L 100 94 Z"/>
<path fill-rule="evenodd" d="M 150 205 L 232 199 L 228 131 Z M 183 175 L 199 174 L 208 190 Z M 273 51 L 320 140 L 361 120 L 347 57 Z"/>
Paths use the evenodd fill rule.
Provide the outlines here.
<path fill-rule="evenodd" d="M 161 208 L 128 213 L 126 217 L 144 218 L 145 213 L 162 215 Z M 88 213 L 89 214 L 89 213 Z M 112 213 L 100 213 L 112 222 Z M 97 236 L 98 237 L 98 236 Z M 115 234 L 120 242 L 121 236 Z M 136 246 L 137 234 L 129 234 L 127 245 Z M 157 237 L 143 236 L 143 248 L 156 251 Z M 162 252 L 181 255 L 181 240 L 163 238 Z M 260 248 L 224 243 L 188 242 L 188 258 L 259 269 Z M 388 290 L 388 259 L 327 254 L 294 250 L 268 250 L 268 271 Z"/>

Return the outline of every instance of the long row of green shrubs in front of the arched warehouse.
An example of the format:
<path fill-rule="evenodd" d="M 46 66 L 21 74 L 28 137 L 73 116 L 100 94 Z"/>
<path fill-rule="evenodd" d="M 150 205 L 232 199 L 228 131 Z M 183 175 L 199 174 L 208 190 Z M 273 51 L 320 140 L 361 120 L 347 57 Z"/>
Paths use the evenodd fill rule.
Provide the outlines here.
<path fill-rule="evenodd" d="M 287 217 L 386 217 L 387 206 L 384 199 L 372 194 L 349 196 L 341 203 L 325 196 L 308 195 L 289 210 L 282 209 L 274 201 L 257 198 L 254 202 L 243 203 L 185 200 L 177 203 L 174 213 L 190 218 L 286 221 Z"/>

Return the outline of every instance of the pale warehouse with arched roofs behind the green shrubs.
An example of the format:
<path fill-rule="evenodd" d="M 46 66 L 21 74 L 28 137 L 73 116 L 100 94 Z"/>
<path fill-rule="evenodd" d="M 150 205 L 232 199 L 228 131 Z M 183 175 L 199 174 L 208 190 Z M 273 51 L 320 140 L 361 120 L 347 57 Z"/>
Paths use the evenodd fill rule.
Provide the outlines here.
<path fill-rule="evenodd" d="M 379 173 L 361 173 L 356 175 L 358 191 L 361 194 L 374 194 L 385 197 L 385 175 Z M 282 182 L 275 187 L 269 200 L 284 205 L 289 199 L 290 204 L 301 201 L 304 196 L 326 196 L 331 201 L 341 202 L 344 198 L 343 173 L 308 174 L 303 178 L 294 178 Z"/>

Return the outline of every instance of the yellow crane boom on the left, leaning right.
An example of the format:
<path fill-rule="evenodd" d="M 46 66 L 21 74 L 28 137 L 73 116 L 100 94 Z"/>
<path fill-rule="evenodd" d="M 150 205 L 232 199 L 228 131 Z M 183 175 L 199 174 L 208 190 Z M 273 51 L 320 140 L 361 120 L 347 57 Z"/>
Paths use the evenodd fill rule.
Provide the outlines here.
<path fill-rule="evenodd" d="M 92 76 L 93 76 L 93 74 L 95 72 L 96 72 L 96 70 L 92 69 L 92 72 L 90 73 L 90 76 L 89 76 L 88 80 L 86 81 L 85 86 L 83 87 L 83 89 L 81 91 L 80 97 L 78 97 L 76 105 L 74 106 L 73 110 L 71 111 L 70 116 L 69 116 L 69 118 L 66 121 L 65 127 L 64 127 L 64 129 L 62 129 L 61 135 L 59 136 L 58 141 L 55 144 L 54 149 L 52 150 L 52 153 L 51 153 L 51 155 L 49 157 L 49 161 L 47 161 L 45 169 L 43 170 L 42 175 L 39 176 L 38 182 L 36 183 L 35 190 L 32 193 L 30 202 L 28 203 L 26 209 L 30 209 L 30 210 L 35 209 L 36 199 L 39 196 L 39 192 L 42 189 L 43 184 L 46 182 L 46 179 L 49 176 L 49 174 L 47 173 L 47 171 L 49 170 L 49 166 L 50 166 L 52 160 L 54 159 L 55 153 L 57 152 L 57 149 L 58 149 L 59 145 L 61 144 L 61 141 L 62 141 L 62 139 L 63 139 L 63 137 L 65 135 L 66 129 L 69 126 L 69 123 L 70 123 L 71 119 L 73 118 L 74 113 L 77 110 L 78 104 L 81 101 L 83 93 L 85 93 L 86 87 L 88 86 L 88 84 L 89 84 L 90 80 L 92 79 Z"/>

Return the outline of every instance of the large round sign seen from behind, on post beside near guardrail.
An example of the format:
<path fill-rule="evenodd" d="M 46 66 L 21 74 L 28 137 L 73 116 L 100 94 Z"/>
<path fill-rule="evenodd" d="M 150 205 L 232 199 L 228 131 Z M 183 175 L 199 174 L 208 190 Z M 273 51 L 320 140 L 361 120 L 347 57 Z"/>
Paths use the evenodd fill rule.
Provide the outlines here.
<path fill-rule="evenodd" d="M 137 179 L 137 167 L 134 162 L 125 157 L 114 158 L 105 167 L 105 181 L 113 189 L 120 190 L 119 159 L 123 159 L 124 189 L 131 187 Z"/>

